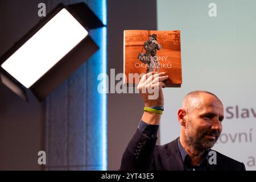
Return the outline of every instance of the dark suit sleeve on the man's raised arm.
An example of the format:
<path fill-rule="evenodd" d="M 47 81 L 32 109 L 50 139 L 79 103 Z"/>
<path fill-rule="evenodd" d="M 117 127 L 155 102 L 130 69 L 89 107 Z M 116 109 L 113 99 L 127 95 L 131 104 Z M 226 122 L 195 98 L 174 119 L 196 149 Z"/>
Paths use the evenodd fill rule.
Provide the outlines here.
<path fill-rule="evenodd" d="M 123 153 L 119 170 L 154 169 L 152 163 L 154 162 L 156 140 L 157 137 L 152 138 L 137 129 Z"/>

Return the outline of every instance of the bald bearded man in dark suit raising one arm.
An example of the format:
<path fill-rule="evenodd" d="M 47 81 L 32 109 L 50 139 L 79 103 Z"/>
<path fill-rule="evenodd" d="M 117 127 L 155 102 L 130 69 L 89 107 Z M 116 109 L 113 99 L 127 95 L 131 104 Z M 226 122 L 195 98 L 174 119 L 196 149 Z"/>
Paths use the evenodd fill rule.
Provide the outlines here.
<path fill-rule="evenodd" d="M 147 73 L 141 78 L 137 88 L 145 107 L 163 110 L 162 89 L 167 78 L 164 72 Z M 150 89 L 158 92 L 155 100 L 148 99 L 152 95 L 147 92 Z M 156 135 L 161 115 L 144 111 L 138 129 L 123 153 L 120 170 L 245 171 L 243 163 L 211 149 L 221 134 L 224 119 L 222 102 L 213 93 L 188 93 L 177 111 L 180 137 L 158 146 Z"/>

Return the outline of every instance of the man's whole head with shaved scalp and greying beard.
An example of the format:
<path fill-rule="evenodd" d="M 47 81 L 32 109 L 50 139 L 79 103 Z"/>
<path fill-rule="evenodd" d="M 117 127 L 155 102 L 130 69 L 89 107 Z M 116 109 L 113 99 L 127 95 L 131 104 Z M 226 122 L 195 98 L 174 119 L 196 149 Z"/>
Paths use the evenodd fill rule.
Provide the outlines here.
<path fill-rule="evenodd" d="M 224 109 L 213 93 L 193 91 L 185 96 L 177 117 L 181 144 L 188 151 L 204 152 L 212 148 L 220 136 Z"/>

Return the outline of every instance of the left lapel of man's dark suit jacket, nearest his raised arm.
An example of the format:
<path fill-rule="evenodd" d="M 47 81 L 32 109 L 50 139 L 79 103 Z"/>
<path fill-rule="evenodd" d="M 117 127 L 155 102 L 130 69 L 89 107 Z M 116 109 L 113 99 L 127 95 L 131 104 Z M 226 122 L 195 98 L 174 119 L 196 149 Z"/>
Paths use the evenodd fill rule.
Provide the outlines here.
<path fill-rule="evenodd" d="M 178 139 L 178 138 L 177 138 Z M 168 144 L 167 156 L 164 158 L 167 170 L 169 171 L 184 171 L 184 164 L 177 146 L 177 139 Z"/>

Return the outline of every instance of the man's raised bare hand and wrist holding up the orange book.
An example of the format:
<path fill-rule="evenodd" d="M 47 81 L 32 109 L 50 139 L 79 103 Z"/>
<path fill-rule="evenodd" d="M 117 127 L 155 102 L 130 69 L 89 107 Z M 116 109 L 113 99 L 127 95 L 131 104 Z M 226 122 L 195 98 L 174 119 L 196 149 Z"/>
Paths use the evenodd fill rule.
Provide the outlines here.
<path fill-rule="evenodd" d="M 164 72 L 150 72 L 142 76 L 137 89 L 139 90 L 139 93 L 141 94 L 146 107 L 164 105 L 162 88 L 166 86 L 163 81 L 167 80 L 167 78 L 168 75 L 166 75 Z M 159 125 L 160 115 L 161 114 L 144 111 L 142 121 L 151 125 Z"/>

